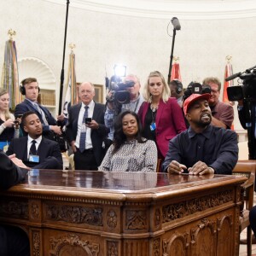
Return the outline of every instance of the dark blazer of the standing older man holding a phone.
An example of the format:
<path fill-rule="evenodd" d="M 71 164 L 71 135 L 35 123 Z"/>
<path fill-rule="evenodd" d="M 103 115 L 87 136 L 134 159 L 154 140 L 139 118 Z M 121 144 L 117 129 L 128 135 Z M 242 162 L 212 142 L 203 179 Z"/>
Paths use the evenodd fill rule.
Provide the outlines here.
<path fill-rule="evenodd" d="M 67 141 L 71 143 L 76 140 L 78 132 L 78 120 L 79 111 L 81 104 L 76 104 L 72 106 L 68 111 L 68 123 L 67 123 Z M 100 103 L 95 103 L 92 119 L 96 120 L 99 124 L 99 129 L 92 129 L 90 133 L 91 143 L 96 158 L 96 163 L 98 166 L 101 165 L 102 159 L 105 154 L 104 148 L 102 148 L 102 143 L 108 135 L 108 128 L 104 125 L 104 105 Z"/>

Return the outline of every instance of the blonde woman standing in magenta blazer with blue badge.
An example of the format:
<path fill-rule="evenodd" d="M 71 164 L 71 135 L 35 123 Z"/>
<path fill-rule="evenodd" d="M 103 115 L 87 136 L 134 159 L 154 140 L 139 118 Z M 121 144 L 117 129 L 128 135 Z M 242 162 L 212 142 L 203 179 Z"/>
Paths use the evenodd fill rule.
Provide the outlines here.
<path fill-rule="evenodd" d="M 143 102 L 138 116 L 143 124 L 143 137 L 157 145 L 160 166 L 160 161 L 166 157 L 169 140 L 186 130 L 183 112 L 177 100 L 170 97 L 169 86 L 158 71 L 149 73 L 144 98 L 146 102 Z"/>

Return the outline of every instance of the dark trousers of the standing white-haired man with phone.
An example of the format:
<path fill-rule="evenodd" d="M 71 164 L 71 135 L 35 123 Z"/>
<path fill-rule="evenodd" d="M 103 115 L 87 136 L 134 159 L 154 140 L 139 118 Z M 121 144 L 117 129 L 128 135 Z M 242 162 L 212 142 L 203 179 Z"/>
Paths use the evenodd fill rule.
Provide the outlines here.
<path fill-rule="evenodd" d="M 88 171 L 97 171 L 98 166 L 96 163 L 96 158 L 93 153 L 93 149 L 85 149 L 83 153 L 77 151 L 73 155 L 75 170 L 88 170 Z"/>

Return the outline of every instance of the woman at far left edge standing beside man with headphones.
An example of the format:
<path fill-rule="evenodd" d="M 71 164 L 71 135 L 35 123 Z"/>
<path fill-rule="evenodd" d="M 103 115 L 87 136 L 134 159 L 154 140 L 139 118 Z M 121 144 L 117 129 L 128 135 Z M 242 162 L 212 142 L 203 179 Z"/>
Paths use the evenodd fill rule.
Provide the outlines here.
<path fill-rule="evenodd" d="M 0 88 L 0 149 L 20 136 L 20 119 L 9 113 L 9 92 Z"/>

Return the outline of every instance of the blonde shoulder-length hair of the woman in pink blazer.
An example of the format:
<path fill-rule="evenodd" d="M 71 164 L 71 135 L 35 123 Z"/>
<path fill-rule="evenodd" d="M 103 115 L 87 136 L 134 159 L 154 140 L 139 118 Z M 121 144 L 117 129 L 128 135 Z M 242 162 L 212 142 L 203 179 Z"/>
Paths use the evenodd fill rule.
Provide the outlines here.
<path fill-rule="evenodd" d="M 144 96 L 145 100 L 147 102 L 151 102 L 151 95 L 149 93 L 149 79 L 153 78 L 153 77 L 158 77 L 161 79 L 162 84 L 164 84 L 164 89 L 162 92 L 162 100 L 163 100 L 163 102 L 168 102 L 168 99 L 171 96 L 171 91 L 170 91 L 168 84 L 166 84 L 166 80 L 165 80 L 164 76 L 159 71 L 150 72 L 148 75 L 148 81 L 147 81 L 147 84 L 145 84 L 144 90 L 143 90 L 143 96 Z"/>

